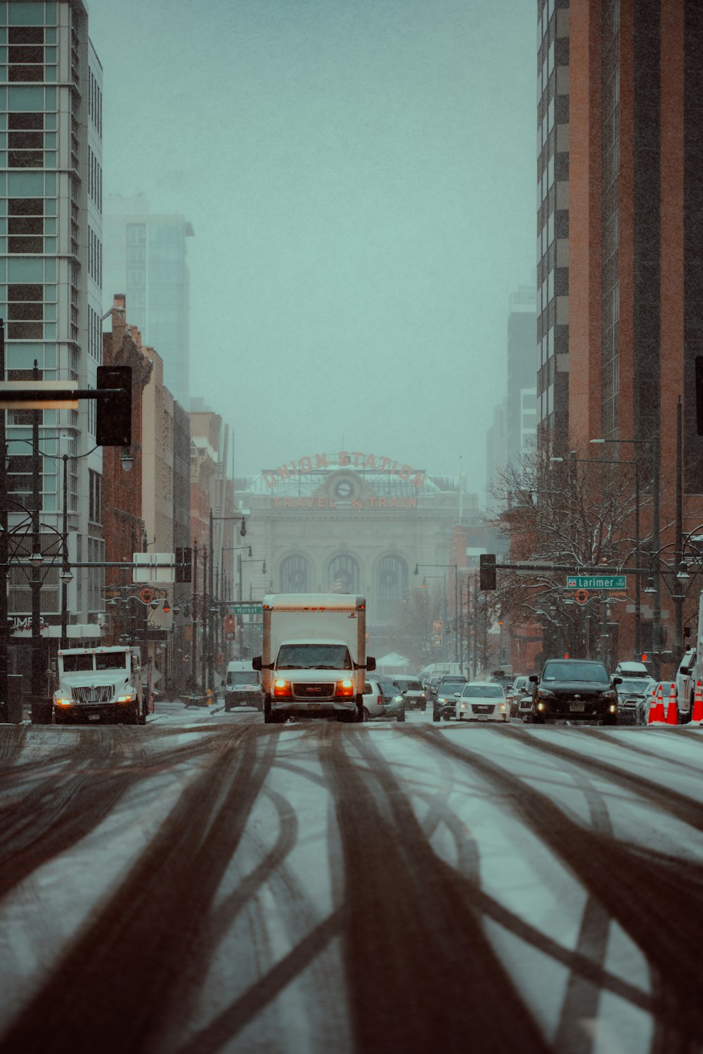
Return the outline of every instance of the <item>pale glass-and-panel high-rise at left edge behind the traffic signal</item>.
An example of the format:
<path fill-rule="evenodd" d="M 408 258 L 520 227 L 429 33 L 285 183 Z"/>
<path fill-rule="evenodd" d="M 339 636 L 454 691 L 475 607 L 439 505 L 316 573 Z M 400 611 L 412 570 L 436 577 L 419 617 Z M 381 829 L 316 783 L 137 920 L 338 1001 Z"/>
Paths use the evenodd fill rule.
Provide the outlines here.
<path fill-rule="evenodd" d="M 81 0 L 0 3 L 0 316 L 7 379 L 92 388 L 101 360 L 102 70 Z M 60 621 L 64 497 L 72 562 L 104 560 L 101 448 L 94 402 L 40 411 L 42 623 Z M 11 549 L 28 541 L 33 411 L 7 411 Z M 90 451 L 90 452 L 89 452 Z M 63 488 L 62 455 L 69 455 Z M 23 536 L 26 535 L 26 536 Z M 102 571 L 76 568 L 72 623 L 97 623 Z M 31 614 L 24 570 L 9 570 L 8 611 L 21 640 Z M 96 625 L 96 636 L 99 629 Z"/>

